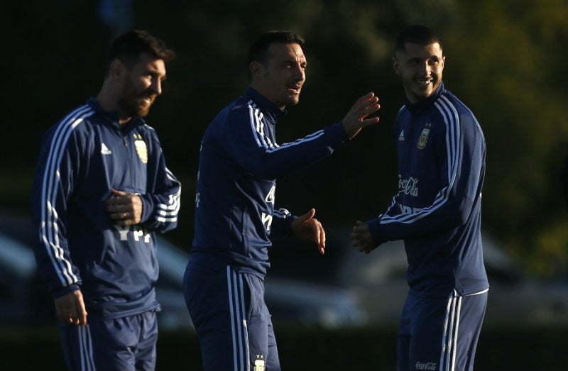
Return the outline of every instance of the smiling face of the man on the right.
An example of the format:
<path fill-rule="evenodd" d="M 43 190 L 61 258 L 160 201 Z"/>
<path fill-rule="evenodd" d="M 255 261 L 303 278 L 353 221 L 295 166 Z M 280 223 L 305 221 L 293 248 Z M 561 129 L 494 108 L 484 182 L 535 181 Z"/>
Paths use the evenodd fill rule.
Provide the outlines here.
<path fill-rule="evenodd" d="M 405 43 L 405 50 L 396 52 L 393 68 L 403 78 L 406 97 L 411 103 L 426 99 L 438 89 L 445 60 L 439 43 Z"/>

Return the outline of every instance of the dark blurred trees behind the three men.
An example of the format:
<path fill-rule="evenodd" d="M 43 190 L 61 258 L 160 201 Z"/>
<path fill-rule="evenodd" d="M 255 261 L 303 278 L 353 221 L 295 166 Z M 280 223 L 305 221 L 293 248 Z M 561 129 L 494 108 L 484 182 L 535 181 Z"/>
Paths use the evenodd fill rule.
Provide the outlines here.
<path fill-rule="evenodd" d="M 562 167 L 568 155 L 568 2 L 565 0 L 11 1 L 4 38 L 0 204 L 27 213 L 40 137 L 97 94 L 114 35 L 145 28 L 178 52 L 148 116 L 182 180 L 180 227 L 189 248 L 200 140 L 219 109 L 244 92 L 249 44 L 290 29 L 307 44 L 300 104 L 278 124 L 285 143 L 343 118 L 373 91 L 381 122 L 309 170 L 280 179 L 277 204 L 317 209 L 328 228 L 383 212 L 397 187 L 393 121 L 403 89 L 391 57 L 410 23 L 435 28 L 444 82 L 481 123 L 488 148 L 484 233 L 540 277 L 568 271 Z M 329 227 L 332 226 L 332 227 Z"/>

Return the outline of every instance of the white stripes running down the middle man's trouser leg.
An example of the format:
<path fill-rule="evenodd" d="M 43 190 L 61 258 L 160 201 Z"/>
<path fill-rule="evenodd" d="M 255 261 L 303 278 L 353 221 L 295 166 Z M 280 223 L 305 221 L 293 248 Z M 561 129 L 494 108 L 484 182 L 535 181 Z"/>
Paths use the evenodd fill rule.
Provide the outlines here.
<path fill-rule="evenodd" d="M 244 319 L 244 288 L 241 275 L 226 267 L 231 316 L 234 371 L 249 370 L 249 340 Z"/>

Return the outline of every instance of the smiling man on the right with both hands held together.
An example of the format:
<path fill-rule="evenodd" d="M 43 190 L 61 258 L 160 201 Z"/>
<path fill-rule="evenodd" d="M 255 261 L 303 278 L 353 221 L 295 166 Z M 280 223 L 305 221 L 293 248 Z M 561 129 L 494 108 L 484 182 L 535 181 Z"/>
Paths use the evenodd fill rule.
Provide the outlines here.
<path fill-rule="evenodd" d="M 483 131 L 444 89 L 445 57 L 431 28 L 400 32 L 393 68 L 404 106 L 395 122 L 398 192 L 391 206 L 357 221 L 353 245 L 371 253 L 404 240 L 408 298 L 398 332 L 398 370 L 473 370 L 488 281 L 481 246 Z"/>

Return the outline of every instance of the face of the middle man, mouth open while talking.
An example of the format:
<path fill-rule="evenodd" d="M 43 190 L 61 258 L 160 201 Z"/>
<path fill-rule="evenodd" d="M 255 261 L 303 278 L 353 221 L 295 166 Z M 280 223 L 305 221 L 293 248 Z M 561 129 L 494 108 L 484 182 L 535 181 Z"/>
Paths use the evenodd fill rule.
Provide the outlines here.
<path fill-rule="evenodd" d="M 306 79 L 307 62 L 302 47 L 296 43 L 273 43 L 268 54 L 266 65 L 251 64 L 251 86 L 280 109 L 297 104 Z"/>

